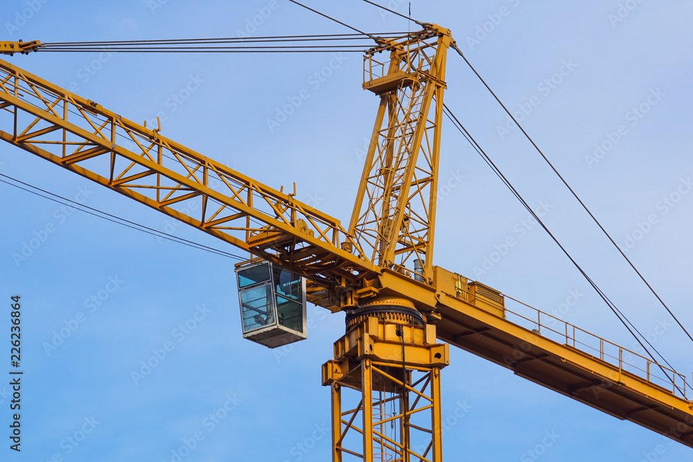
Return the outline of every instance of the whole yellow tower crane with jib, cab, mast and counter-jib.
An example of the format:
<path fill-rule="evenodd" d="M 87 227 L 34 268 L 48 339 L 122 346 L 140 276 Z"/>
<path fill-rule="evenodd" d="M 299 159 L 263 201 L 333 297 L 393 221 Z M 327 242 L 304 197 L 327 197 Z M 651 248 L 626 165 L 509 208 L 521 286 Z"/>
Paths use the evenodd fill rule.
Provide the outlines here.
<path fill-rule="evenodd" d="M 379 105 L 346 228 L 4 61 L 0 109 L 12 123 L 0 125 L 0 139 L 252 254 L 236 268 L 245 337 L 271 347 L 305 338 L 306 300 L 346 312 L 345 335 L 322 366 L 335 462 L 442 460 L 449 345 L 693 447 L 689 377 L 545 312 L 511 308 L 498 290 L 432 264 L 453 43 L 449 30 L 426 24 L 365 52 L 363 88 Z M 38 47 L 0 42 L 4 54 Z M 198 206 L 181 207 L 191 201 Z M 415 449 L 424 436 L 428 446 Z"/>

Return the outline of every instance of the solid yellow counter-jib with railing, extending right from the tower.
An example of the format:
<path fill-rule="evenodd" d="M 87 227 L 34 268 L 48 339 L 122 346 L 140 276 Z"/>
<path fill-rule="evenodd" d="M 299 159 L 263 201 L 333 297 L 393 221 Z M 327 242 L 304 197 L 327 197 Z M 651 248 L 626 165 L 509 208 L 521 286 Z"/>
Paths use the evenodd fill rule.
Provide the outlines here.
<path fill-rule="evenodd" d="M 563 323 L 566 333 L 558 335 L 554 330 L 553 337 L 558 338 L 549 338 L 552 332 L 541 325 L 540 319 L 550 318 L 549 314 L 533 311 L 532 319 L 536 321 L 528 322 L 536 323 L 538 329 L 520 326 L 506 319 L 505 315 L 512 313 L 504 308 L 502 301 L 489 298 L 495 299 L 497 294 L 502 300 L 500 292 L 466 278 L 466 285 L 484 287 L 485 292 L 459 291 L 455 284 L 458 275 L 439 267 L 434 267 L 434 273 L 435 285 L 427 286 L 384 269 L 375 290 L 378 296 L 409 299 L 431 322 L 439 319 L 436 328 L 440 340 L 606 414 L 630 420 L 693 447 L 690 376 L 560 320 L 556 321 Z M 584 332 L 595 339 L 596 346 L 581 344 L 573 332 Z M 614 348 L 614 353 L 605 353 L 607 345 Z"/>

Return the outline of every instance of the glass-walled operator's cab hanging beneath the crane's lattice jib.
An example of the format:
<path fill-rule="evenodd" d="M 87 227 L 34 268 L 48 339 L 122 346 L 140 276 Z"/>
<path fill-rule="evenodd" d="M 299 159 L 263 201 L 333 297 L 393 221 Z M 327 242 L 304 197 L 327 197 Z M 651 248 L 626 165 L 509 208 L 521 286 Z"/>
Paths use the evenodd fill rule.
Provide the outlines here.
<path fill-rule="evenodd" d="M 308 337 L 306 278 L 265 260 L 236 265 L 243 337 L 277 348 Z"/>

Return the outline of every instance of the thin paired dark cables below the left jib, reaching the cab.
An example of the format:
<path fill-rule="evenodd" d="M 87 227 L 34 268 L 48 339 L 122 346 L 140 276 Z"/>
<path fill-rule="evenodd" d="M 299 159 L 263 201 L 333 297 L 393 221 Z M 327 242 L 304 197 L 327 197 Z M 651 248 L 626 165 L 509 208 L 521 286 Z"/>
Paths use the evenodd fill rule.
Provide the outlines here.
<path fill-rule="evenodd" d="M 227 251 L 215 249 L 213 247 L 199 244 L 198 242 L 193 242 L 191 240 L 187 240 L 184 238 L 179 238 L 177 236 L 173 236 L 173 234 L 164 233 L 164 231 L 158 231 L 157 229 L 150 228 L 149 226 L 145 226 L 143 224 L 139 224 L 139 223 L 132 222 L 130 220 L 126 220 L 125 218 L 121 218 L 121 217 L 118 217 L 116 215 L 112 215 L 110 213 L 100 211 L 97 208 L 89 207 L 89 206 L 86 206 L 85 204 L 80 204 L 79 202 L 75 202 L 73 200 L 67 199 L 66 197 L 62 197 L 61 195 L 51 193 L 51 192 L 46 191 L 46 190 L 41 189 L 41 188 L 37 188 L 36 186 L 30 185 L 28 183 L 24 183 L 24 181 L 20 181 L 19 179 L 8 177 L 8 175 L 3 175 L 2 173 L 0 173 L 0 177 L 4 177 L 6 179 L 16 181 L 19 184 L 23 184 L 24 186 L 27 186 L 27 188 L 23 188 L 22 186 L 19 186 L 18 184 L 10 183 L 10 181 L 0 179 L 0 182 L 2 182 L 2 183 L 8 184 L 10 186 L 14 186 L 15 188 L 19 188 L 21 190 L 24 190 L 27 193 L 31 193 L 31 194 L 34 194 L 34 195 L 37 195 L 40 197 L 44 197 L 45 199 L 49 199 L 53 202 L 58 202 L 58 204 L 77 208 L 79 211 L 89 213 L 89 215 L 94 215 L 95 217 L 103 218 L 104 220 L 108 220 L 109 222 L 122 224 L 123 226 L 127 226 L 128 228 L 135 229 L 137 231 L 142 231 L 143 233 L 151 234 L 152 236 L 156 236 L 157 238 L 163 238 L 166 240 L 170 240 L 172 242 L 178 242 L 179 244 L 187 245 L 188 247 L 193 247 L 195 249 L 208 251 L 211 254 L 217 254 L 217 255 L 229 257 L 229 258 L 236 258 L 240 261 L 247 260 L 247 258 L 243 258 L 243 257 L 237 256 L 234 254 L 230 254 Z M 28 189 L 28 188 L 32 188 L 32 189 Z M 41 191 L 41 193 L 45 193 L 47 195 L 37 193 L 37 190 Z M 49 197 L 48 195 L 51 195 L 53 197 L 57 197 L 58 199 L 55 199 L 53 197 Z M 87 209 L 89 209 L 89 210 L 87 210 Z M 99 215 L 99 214 L 101 214 L 101 215 Z M 104 215 L 107 215 L 107 216 L 104 216 Z"/>

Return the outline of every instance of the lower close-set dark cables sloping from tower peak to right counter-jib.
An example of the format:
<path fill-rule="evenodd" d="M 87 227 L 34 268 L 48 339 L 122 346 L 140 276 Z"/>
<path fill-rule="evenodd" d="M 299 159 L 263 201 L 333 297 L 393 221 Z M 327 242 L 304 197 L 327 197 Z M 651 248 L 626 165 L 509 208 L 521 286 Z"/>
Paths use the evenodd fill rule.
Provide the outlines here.
<path fill-rule="evenodd" d="M 498 175 L 498 177 L 505 184 L 505 186 L 507 186 L 511 190 L 511 193 L 513 193 L 513 195 L 515 197 L 517 197 L 517 199 L 523 204 L 523 206 L 527 209 L 527 211 L 529 211 L 529 213 L 532 215 L 532 217 L 534 217 L 534 220 L 536 220 L 538 222 L 538 224 L 544 229 L 544 231 L 546 231 L 546 233 L 550 236 L 550 238 L 552 238 L 552 240 L 554 240 L 554 242 L 556 242 L 556 245 L 558 245 L 559 248 L 561 249 L 561 251 L 563 251 L 563 254 L 565 254 L 565 256 L 568 257 L 570 262 L 577 268 L 577 270 L 580 272 L 580 274 L 582 274 L 584 276 L 584 278 L 588 281 L 588 283 L 595 289 L 597 294 L 599 294 L 599 296 L 602 297 L 602 300 L 604 300 L 604 303 L 606 303 L 606 305 L 608 305 L 608 307 L 611 308 L 611 311 L 613 311 L 613 313 L 616 315 L 616 317 L 619 319 L 619 321 L 621 321 L 621 323 L 624 325 L 624 327 L 631 333 L 631 335 L 633 335 L 633 338 L 636 341 L 638 341 L 638 344 L 640 344 L 640 346 L 642 346 L 642 349 L 647 352 L 647 354 L 649 355 L 649 357 L 651 357 L 653 362 L 655 364 L 657 364 L 657 366 L 659 366 L 659 368 L 662 370 L 662 372 L 667 376 L 667 379 L 671 380 L 672 383 L 675 383 L 673 378 L 670 377 L 669 374 L 667 373 L 667 371 L 665 370 L 665 368 L 663 368 L 663 366 L 661 366 L 656 361 L 656 359 L 654 358 L 652 353 L 650 353 L 650 351 L 647 349 L 647 347 L 644 346 L 642 341 L 640 341 L 638 336 L 635 335 L 633 330 L 635 330 L 635 332 L 638 332 L 638 335 L 640 335 L 640 337 L 642 337 L 642 339 L 644 339 L 644 341 L 650 346 L 650 348 L 652 348 L 652 350 L 654 350 L 655 353 L 657 353 L 657 355 L 660 358 L 662 358 L 662 360 L 667 364 L 667 366 L 669 366 L 669 368 L 672 369 L 672 371 L 675 370 L 674 367 L 671 364 L 669 364 L 667 359 L 665 357 L 663 357 L 663 355 L 661 353 L 659 353 L 659 351 L 656 348 L 654 348 L 654 346 L 652 346 L 652 344 L 647 340 L 647 338 L 644 337 L 642 335 L 642 333 L 640 333 L 638 328 L 635 328 L 635 326 L 633 326 L 633 323 L 631 323 L 631 321 L 629 321 L 629 319 L 621 312 L 621 310 L 619 310 L 617 308 L 617 306 L 608 298 L 608 296 L 606 296 L 606 294 L 604 294 L 604 292 L 602 292 L 602 290 L 599 288 L 599 286 L 597 286 L 597 283 L 595 283 L 590 278 L 590 276 L 588 276 L 588 274 L 586 272 L 584 272 L 584 269 L 582 269 L 582 267 L 580 267 L 580 265 L 572 258 L 572 256 L 570 256 L 570 254 L 565 249 L 565 247 L 563 247 L 563 245 L 561 245 L 561 243 L 559 242 L 558 239 L 556 239 L 556 237 L 553 235 L 553 233 L 551 233 L 551 231 L 549 231 L 549 229 L 544 224 L 544 222 L 541 220 L 541 218 L 538 217 L 538 215 L 536 215 L 536 213 L 534 213 L 534 211 L 532 210 L 532 207 L 530 207 L 529 204 L 527 204 L 527 202 L 525 201 L 525 199 L 523 199 L 523 197 L 520 195 L 520 193 L 518 193 L 518 190 L 516 190 L 516 188 L 514 188 L 514 186 L 512 186 L 512 184 L 507 179 L 507 177 L 505 177 L 505 175 L 503 175 L 502 172 L 500 172 L 498 167 L 495 166 L 495 163 L 493 163 L 493 161 L 491 161 L 491 158 L 488 156 L 488 154 L 486 154 L 486 152 L 476 142 L 476 140 L 473 138 L 473 136 L 471 136 L 471 134 L 469 134 L 469 132 L 466 130 L 466 128 L 464 128 L 464 125 L 462 125 L 462 123 L 459 122 L 459 120 L 457 119 L 455 114 L 453 114 L 453 112 L 450 111 L 450 108 L 447 105 L 443 105 L 443 109 L 444 109 L 445 115 L 448 117 L 448 119 L 450 119 L 450 121 L 453 123 L 453 125 L 455 125 L 455 128 L 457 128 L 457 130 L 459 130 L 459 132 L 462 133 L 462 136 L 464 136 L 464 138 L 472 145 L 472 148 L 474 148 L 474 150 L 478 154 L 480 154 L 482 159 L 484 159 L 484 161 L 487 164 L 489 164 L 489 166 L 491 167 L 491 170 L 493 170 L 493 172 L 495 172 L 495 174 Z M 675 386 L 676 386 L 676 389 L 678 389 L 678 391 L 681 391 L 681 393 L 683 393 L 683 391 L 678 387 L 678 385 L 675 385 Z M 685 396 L 685 394 L 684 394 L 684 396 Z"/>

